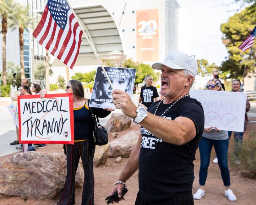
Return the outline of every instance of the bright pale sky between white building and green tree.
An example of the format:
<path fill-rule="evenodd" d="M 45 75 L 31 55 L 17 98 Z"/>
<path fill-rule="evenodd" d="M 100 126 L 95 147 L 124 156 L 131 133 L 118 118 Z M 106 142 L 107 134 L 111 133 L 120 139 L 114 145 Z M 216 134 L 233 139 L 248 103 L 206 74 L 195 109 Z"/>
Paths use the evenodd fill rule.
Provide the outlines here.
<path fill-rule="evenodd" d="M 177 0 L 181 6 L 179 50 L 220 65 L 227 56 L 220 26 L 238 12 L 239 4 L 234 1 Z"/>

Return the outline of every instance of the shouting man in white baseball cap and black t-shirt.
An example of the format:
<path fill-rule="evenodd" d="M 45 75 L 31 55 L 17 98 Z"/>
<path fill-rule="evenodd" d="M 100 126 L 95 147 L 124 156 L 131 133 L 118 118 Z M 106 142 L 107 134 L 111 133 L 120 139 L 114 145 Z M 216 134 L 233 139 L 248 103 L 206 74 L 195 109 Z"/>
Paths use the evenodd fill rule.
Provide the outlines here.
<path fill-rule="evenodd" d="M 126 180 L 139 168 L 135 205 L 193 205 L 193 160 L 204 131 L 203 107 L 189 96 L 197 62 L 173 51 L 152 67 L 162 71 L 160 93 L 165 98 L 147 110 L 134 105 L 127 93 L 112 92 L 115 107 L 141 128 L 138 143 L 111 194 L 117 190 L 121 201 Z"/>

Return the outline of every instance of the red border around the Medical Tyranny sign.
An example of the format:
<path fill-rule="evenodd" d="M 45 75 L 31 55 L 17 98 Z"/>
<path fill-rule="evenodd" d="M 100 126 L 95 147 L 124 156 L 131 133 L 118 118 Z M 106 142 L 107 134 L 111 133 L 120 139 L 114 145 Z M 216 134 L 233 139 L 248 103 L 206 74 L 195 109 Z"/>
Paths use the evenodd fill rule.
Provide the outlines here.
<path fill-rule="evenodd" d="M 43 141 L 43 140 L 21 140 L 21 129 L 19 129 L 19 143 L 26 144 L 74 144 L 74 113 L 73 113 L 73 94 L 72 93 L 61 93 L 61 94 L 46 94 L 45 98 L 52 97 L 68 97 L 69 100 L 69 114 L 70 114 L 70 131 L 71 131 L 71 141 Z M 21 127 L 21 117 L 20 117 L 20 99 L 34 99 L 40 98 L 40 95 L 18 95 L 18 106 L 19 106 L 19 128 Z"/>

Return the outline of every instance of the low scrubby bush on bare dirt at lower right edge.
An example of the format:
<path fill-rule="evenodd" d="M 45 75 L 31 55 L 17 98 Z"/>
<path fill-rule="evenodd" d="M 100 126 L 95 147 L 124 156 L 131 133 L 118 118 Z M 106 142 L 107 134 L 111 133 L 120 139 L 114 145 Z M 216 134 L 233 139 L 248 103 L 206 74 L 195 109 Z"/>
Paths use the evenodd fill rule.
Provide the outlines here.
<path fill-rule="evenodd" d="M 233 155 L 233 159 L 239 159 L 240 165 L 236 165 L 237 169 L 244 176 L 256 178 L 256 138 L 251 136 L 249 140 L 244 140 L 241 149 L 236 152 L 237 156 Z M 233 160 L 234 161 L 234 160 Z M 234 163 L 235 164 L 235 163 Z"/>

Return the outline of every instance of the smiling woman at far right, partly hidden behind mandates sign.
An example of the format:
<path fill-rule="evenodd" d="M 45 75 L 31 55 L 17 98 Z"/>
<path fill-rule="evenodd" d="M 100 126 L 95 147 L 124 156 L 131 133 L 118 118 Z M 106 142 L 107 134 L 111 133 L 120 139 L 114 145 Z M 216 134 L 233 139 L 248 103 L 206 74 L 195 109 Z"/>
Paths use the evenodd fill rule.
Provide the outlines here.
<path fill-rule="evenodd" d="M 232 81 L 232 92 L 242 92 L 242 90 L 240 90 L 241 88 L 241 82 L 239 79 L 235 79 Z M 243 133 L 246 131 L 247 129 L 247 125 L 249 123 L 249 119 L 247 116 L 247 112 L 250 110 L 250 102 L 248 100 L 248 98 L 246 98 L 246 108 L 245 108 L 245 119 L 244 119 L 244 130 L 243 132 L 234 132 L 234 155 L 236 156 L 236 160 L 235 160 L 235 164 L 239 165 L 241 162 L 238 158 L 238 152 L 241 149 L 242 146 L 242 142 L 243 142 Z M 230 139 L 232 134 L 232 131 L 228 131 L 228 139 Z"/>

